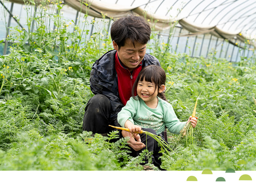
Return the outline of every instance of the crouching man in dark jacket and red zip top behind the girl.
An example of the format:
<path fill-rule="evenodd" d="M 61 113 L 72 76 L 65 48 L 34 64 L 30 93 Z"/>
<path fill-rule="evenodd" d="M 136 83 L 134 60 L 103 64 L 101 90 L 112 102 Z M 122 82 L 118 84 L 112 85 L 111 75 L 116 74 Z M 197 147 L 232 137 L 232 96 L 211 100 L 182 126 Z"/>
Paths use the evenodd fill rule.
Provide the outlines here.
<path fill-rule="evenodd" d="M 141 69 L 160 63 L 154 56 L 146 54 L 150 40 L 148 22 L 134 15 L 115 20 L 111 26 L 114 50 L 106 52 L 96 60 L 90 73 L 90 88 L 95 94 L 85 108 L 83 130 L 106 134 L 114 130 L 108 125 L 120 126 L 117 113 L 131 97 L 132 85 Z M 135 137 L 127 131 L 123 137 L 130 137 L 129 145 L 136 151 L 145 145 L 140 135 Z"/>

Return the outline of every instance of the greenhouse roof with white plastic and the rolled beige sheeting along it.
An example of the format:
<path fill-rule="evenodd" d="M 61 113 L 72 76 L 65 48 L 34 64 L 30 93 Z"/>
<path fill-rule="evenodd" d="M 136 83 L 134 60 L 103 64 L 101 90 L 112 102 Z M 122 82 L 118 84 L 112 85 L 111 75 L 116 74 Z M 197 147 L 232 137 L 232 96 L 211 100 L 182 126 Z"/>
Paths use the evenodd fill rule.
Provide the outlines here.
<path fill-rule="evenodd" d="M 11 1 L 23 3 L 23 0 Z M 80 0 L 64 0 L 64 3 L 81 10 Z M 210 33 L 228 40 L 249 39 L 256 46 L 255 10 L 255 0 L 84 0 L 82 6 L 82 12 L 88 11 L 93 17 L 101 18 L 104 14 L 115 19 L 133 12 L 153 20 L 157 30 L 179 22 L 190 35 Z"/>

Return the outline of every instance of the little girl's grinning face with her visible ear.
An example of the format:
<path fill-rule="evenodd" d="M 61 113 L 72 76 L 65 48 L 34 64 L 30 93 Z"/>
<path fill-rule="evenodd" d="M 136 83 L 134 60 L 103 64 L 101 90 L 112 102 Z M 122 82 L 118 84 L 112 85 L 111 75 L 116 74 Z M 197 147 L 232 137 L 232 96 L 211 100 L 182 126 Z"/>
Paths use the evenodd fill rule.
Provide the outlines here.
<path fill-rule="evenodd" d="M 165 85 L 155 86 L 154 82 L 147 82 L 145 79 L 138 82 L 137 95 L 146 103 L 150 108 L 156 108 L 158 99 L 156 98 L 158 93 L 164 90 Z"/>

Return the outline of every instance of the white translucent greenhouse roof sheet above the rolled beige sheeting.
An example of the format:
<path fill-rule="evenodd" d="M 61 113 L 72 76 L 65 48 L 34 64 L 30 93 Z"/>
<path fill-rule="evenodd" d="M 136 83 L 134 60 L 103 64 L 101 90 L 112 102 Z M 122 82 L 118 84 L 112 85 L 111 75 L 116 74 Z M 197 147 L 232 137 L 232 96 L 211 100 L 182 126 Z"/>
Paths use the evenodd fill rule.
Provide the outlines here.
<path fill-rule="evenodd" d="M 93 1 L 92 1 L 93 2 Z M 100 0 L 120 6 L 139 7 L 148 15 L 169 21 L 187 21 L 195 26 L 217 26 L 255 38 L 255 0 Z M 133 9 L 131 9 L 133 10 Z M 135 11 L 136 12 L 136 11 Z"/>

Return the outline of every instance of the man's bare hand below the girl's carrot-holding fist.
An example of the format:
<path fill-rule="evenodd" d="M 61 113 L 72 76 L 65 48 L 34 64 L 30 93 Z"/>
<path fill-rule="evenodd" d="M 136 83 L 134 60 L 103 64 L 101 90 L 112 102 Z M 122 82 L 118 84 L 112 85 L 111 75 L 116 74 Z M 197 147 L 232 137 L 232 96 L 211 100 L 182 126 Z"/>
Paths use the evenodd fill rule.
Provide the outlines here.
<path fill-rule="evenodd" d="M 127 141 L 129 143 L 129 146 L 134 149 L 135 151 L 139 151 L 142 148 L 144 148 L 146 145 L 141 142 L 141 136 L 139 134 L 132 136 L 132 134 L 130 132 L 127 132 L 125 130 L 122 130 L 122 136 L 125 137 L 129 137 L 130 140 Z M 136 141 L 136 140 L 137 141 Z"/>

